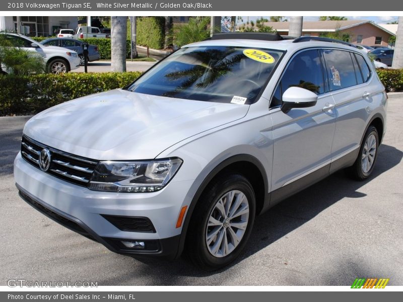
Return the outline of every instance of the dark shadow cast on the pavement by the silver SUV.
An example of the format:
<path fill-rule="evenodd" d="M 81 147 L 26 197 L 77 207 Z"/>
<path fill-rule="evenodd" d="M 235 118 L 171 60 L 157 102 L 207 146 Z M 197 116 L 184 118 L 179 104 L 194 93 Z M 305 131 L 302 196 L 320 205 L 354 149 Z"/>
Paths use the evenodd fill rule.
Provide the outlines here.
<path fill-rule="evenodd" d="M 203 277 L 229 270 L 242 260 L 299 228 L 299 226 L 344 197 L 360 198 L 366 196 L 358 190 L 371 182 L 371 180 L 398 165 L 402 158 L 403 152 L 401 150 L 382 144 L 379 148 L 376 166 L 369 179 L 365 181 L 351 180 L 345 175 L 344 171 L 339 171 L 257 216 L 243 254 L 226 268 L 208 273 L 193 267 L 187 259 L 183 259 L 184 257 L 174 262 L 136 259 L 134 261 L 141 261 L 145 264 L 144 271 L 139 271 L 137 267 L 136 275 L 144 274 L 152 278 L 153 284 L 186 285 L 181 283 L 181 276 Z M 169 276 L 167 272 L 169 272 Z M 127 277 L 129 280 L 130 277 Z M 107 282 L 105 285 L 109 285 Z"/>

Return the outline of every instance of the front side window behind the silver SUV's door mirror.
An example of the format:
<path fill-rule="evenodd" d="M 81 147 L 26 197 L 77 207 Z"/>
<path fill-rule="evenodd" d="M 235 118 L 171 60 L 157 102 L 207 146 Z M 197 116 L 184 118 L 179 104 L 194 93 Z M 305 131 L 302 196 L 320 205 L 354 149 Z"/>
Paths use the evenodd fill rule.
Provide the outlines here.
<path fill-rule="evenodd" d="M 298 53 L 291 59 L 274 93 L 270 107 L 281 105 L 283 93 L 290 87 L 301 87 L 317 95 L 324 93 L 323 73 L 317 49 Z"/>

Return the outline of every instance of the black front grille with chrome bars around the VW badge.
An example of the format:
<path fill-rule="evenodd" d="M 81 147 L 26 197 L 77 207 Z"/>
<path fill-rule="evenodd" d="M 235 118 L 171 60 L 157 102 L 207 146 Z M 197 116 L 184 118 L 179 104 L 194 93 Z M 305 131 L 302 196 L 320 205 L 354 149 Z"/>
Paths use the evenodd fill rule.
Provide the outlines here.
<path fill-rule="evenodd" d="M 50 166 L 45 171 L 62 180 L 79 186 L 87 186 L 98 162 L 73 154 L 65 153 L 46 146 L 27 136 L 22 137 L 21 155 L 31 165 L 40 169 L 41 150 L 47 148 L 50 152 Z"/>

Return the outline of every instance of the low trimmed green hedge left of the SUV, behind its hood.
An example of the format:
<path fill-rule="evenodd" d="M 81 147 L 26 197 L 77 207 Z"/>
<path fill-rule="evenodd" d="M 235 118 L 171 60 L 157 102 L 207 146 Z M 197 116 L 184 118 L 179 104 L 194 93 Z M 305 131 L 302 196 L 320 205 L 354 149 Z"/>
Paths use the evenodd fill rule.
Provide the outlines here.
<path fill-rule="evenodd" d="M 121 88 L 141 72 L 0 75 L 0 116 L 34 114 L 90 94 Z"/>

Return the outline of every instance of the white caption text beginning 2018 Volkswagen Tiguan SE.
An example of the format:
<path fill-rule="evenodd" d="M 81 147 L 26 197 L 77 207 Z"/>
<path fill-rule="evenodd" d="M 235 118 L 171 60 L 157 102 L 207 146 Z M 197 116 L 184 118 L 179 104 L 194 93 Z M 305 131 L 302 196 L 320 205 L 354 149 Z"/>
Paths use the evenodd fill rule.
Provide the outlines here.
<path fill-rule="evenodd" d="M 114 3 L 106 3 L 106 2 L 97 2 L 95 3 L 96 8 L 98 9 L 212 9 L 212 3 L 187 3 L 183 2 L 179 3 L 170 3 L 170 2 L 146 2 L 146 3 L 122 3 L 122 2 L 114 2 Z M 8 2 L 7 8 L 9 9 L 92 9 L 93 3 L 28 3 L 28 2 Z"/>

